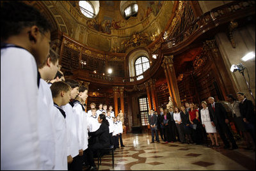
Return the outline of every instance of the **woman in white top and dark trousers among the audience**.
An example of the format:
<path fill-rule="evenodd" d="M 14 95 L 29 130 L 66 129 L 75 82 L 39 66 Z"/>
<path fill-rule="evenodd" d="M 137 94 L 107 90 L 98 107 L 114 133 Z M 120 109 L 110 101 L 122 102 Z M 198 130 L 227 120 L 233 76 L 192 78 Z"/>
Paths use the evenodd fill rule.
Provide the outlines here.
<path fill-rule="evenodd" d="M 184 144 L 184 142 L 185 142 L 184 126 L 182 124 L 182 120 L 180 117 L 180 110 L 177 107 L 175 107 L 175 111 L 173 113 L 173 120 L 175 121 L 177 130 L 179 132 L 180 142 L 181 142 L 181 144 Z"/>

